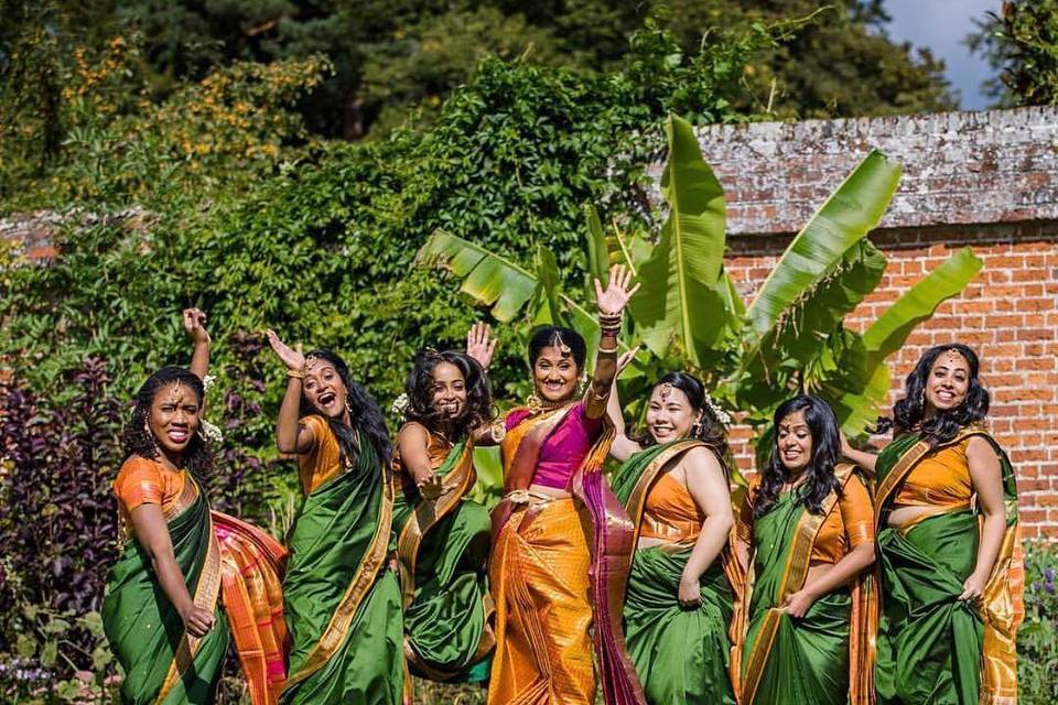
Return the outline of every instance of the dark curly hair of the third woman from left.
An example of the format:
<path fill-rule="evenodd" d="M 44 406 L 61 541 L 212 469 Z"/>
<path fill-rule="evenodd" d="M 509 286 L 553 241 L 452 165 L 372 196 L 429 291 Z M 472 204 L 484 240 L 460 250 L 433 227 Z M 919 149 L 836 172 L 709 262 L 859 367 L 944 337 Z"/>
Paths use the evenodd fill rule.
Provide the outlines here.
<path fill-rule="evenodd" d="M 436 431 L 443 421 L 443 414 L 433 406 L 433 370 L 438 365 L 447 362 L 463 375 L 466 389 L 466 402 L 457 419 L 454 419 L 455 438 L 461 438 L 474 429 L 493 419 L 493 394 L 488 376 L 482 365 L 468 355 L 456 350 L 438 352 L 423 348 L 415 352 L 415 361 L 404 380 L 404 393 L 408 394 L 408 409 L 404 419 L 421 423 L 430 431 Z M 455 441 L 455 438 L 452 438 Z"/>

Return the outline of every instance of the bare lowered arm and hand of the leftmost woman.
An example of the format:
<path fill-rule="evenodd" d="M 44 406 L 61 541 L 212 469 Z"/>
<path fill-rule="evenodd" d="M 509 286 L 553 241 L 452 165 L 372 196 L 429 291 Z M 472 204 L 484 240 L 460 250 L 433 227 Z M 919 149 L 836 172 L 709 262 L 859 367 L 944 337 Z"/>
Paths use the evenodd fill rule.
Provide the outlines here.
<path fill-rule="evenodd" d="M 158 576 L 158 584 L 180 614 L 180 618 L 184 621 L 184 629 L 192 637 L 204 637 L 213 628 L 213 612 L 197 607 L 191 593 L 187 592 L 184 574 L 176 564 L 173 541 L 169 535 L 169 527 L 165 524 L 161 506 L 140 505 L 132 510 L 130 519 L 136 540 L 151 557 L 151 566 L 154 568 L 154 575 Z"/>

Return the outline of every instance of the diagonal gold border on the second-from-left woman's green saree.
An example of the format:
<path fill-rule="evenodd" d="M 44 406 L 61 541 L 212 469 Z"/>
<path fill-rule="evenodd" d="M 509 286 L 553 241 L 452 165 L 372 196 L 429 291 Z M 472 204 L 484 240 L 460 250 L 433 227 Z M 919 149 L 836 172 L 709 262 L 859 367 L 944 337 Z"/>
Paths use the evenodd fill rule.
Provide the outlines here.
<path fill-rule="evenodd" d="M 382 470 L 382 497 L 379 511 L 378 523 L 375 527 L 375 536 L 364 557 L 360 560 L 360 567 L 356 577 L 345 590 L 342 600 L 331 616 L 331 622 L 324 629 L 320 641 L 313 647 L 313 650 L 305 659 L 304 665 L 298 673 L 293 673 L 287 679 L 284 692 L 292 686 L 310 677 L 316 671 L 322 669 L 327 661 L 337 652 L 338 648 L 348 636 L 349 627 L 356 617 L 356 611 L 364 601 L 371 586 L 375 585 L 382 563 L 386 560 L 386 553 L 389 544 L 389 532 L 393 522 L 393 473 L 388 464 L 381 464 Z"/>

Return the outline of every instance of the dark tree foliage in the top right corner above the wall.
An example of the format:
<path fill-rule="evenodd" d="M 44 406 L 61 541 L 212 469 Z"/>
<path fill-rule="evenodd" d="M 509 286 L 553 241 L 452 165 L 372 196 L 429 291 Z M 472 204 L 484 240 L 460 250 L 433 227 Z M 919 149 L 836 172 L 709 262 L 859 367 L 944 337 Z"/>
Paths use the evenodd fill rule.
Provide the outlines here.
<path fill-rule="evenodd" d="M 985 94 L 1000 106 L 1058 105 L 1058 0 L 1007 0 L 967 37 L 998 79 Z"/>

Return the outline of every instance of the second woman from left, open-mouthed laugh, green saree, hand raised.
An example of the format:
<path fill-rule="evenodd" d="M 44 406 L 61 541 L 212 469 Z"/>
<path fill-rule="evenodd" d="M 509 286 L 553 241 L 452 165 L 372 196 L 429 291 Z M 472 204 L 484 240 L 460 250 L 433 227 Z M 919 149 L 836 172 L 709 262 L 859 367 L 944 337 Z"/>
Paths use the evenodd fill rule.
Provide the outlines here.
<path fill-rule="evenodd" d="M 298 455 L 304 492 L 288 534 L 291 651 L 280 702 L 397 705 L 403 626 L 390 561 L 393 481 L 382 412 L 334 352 L 302 355 L 274 332 L 268 337 L 288 376 L 276 445 Z"/>

